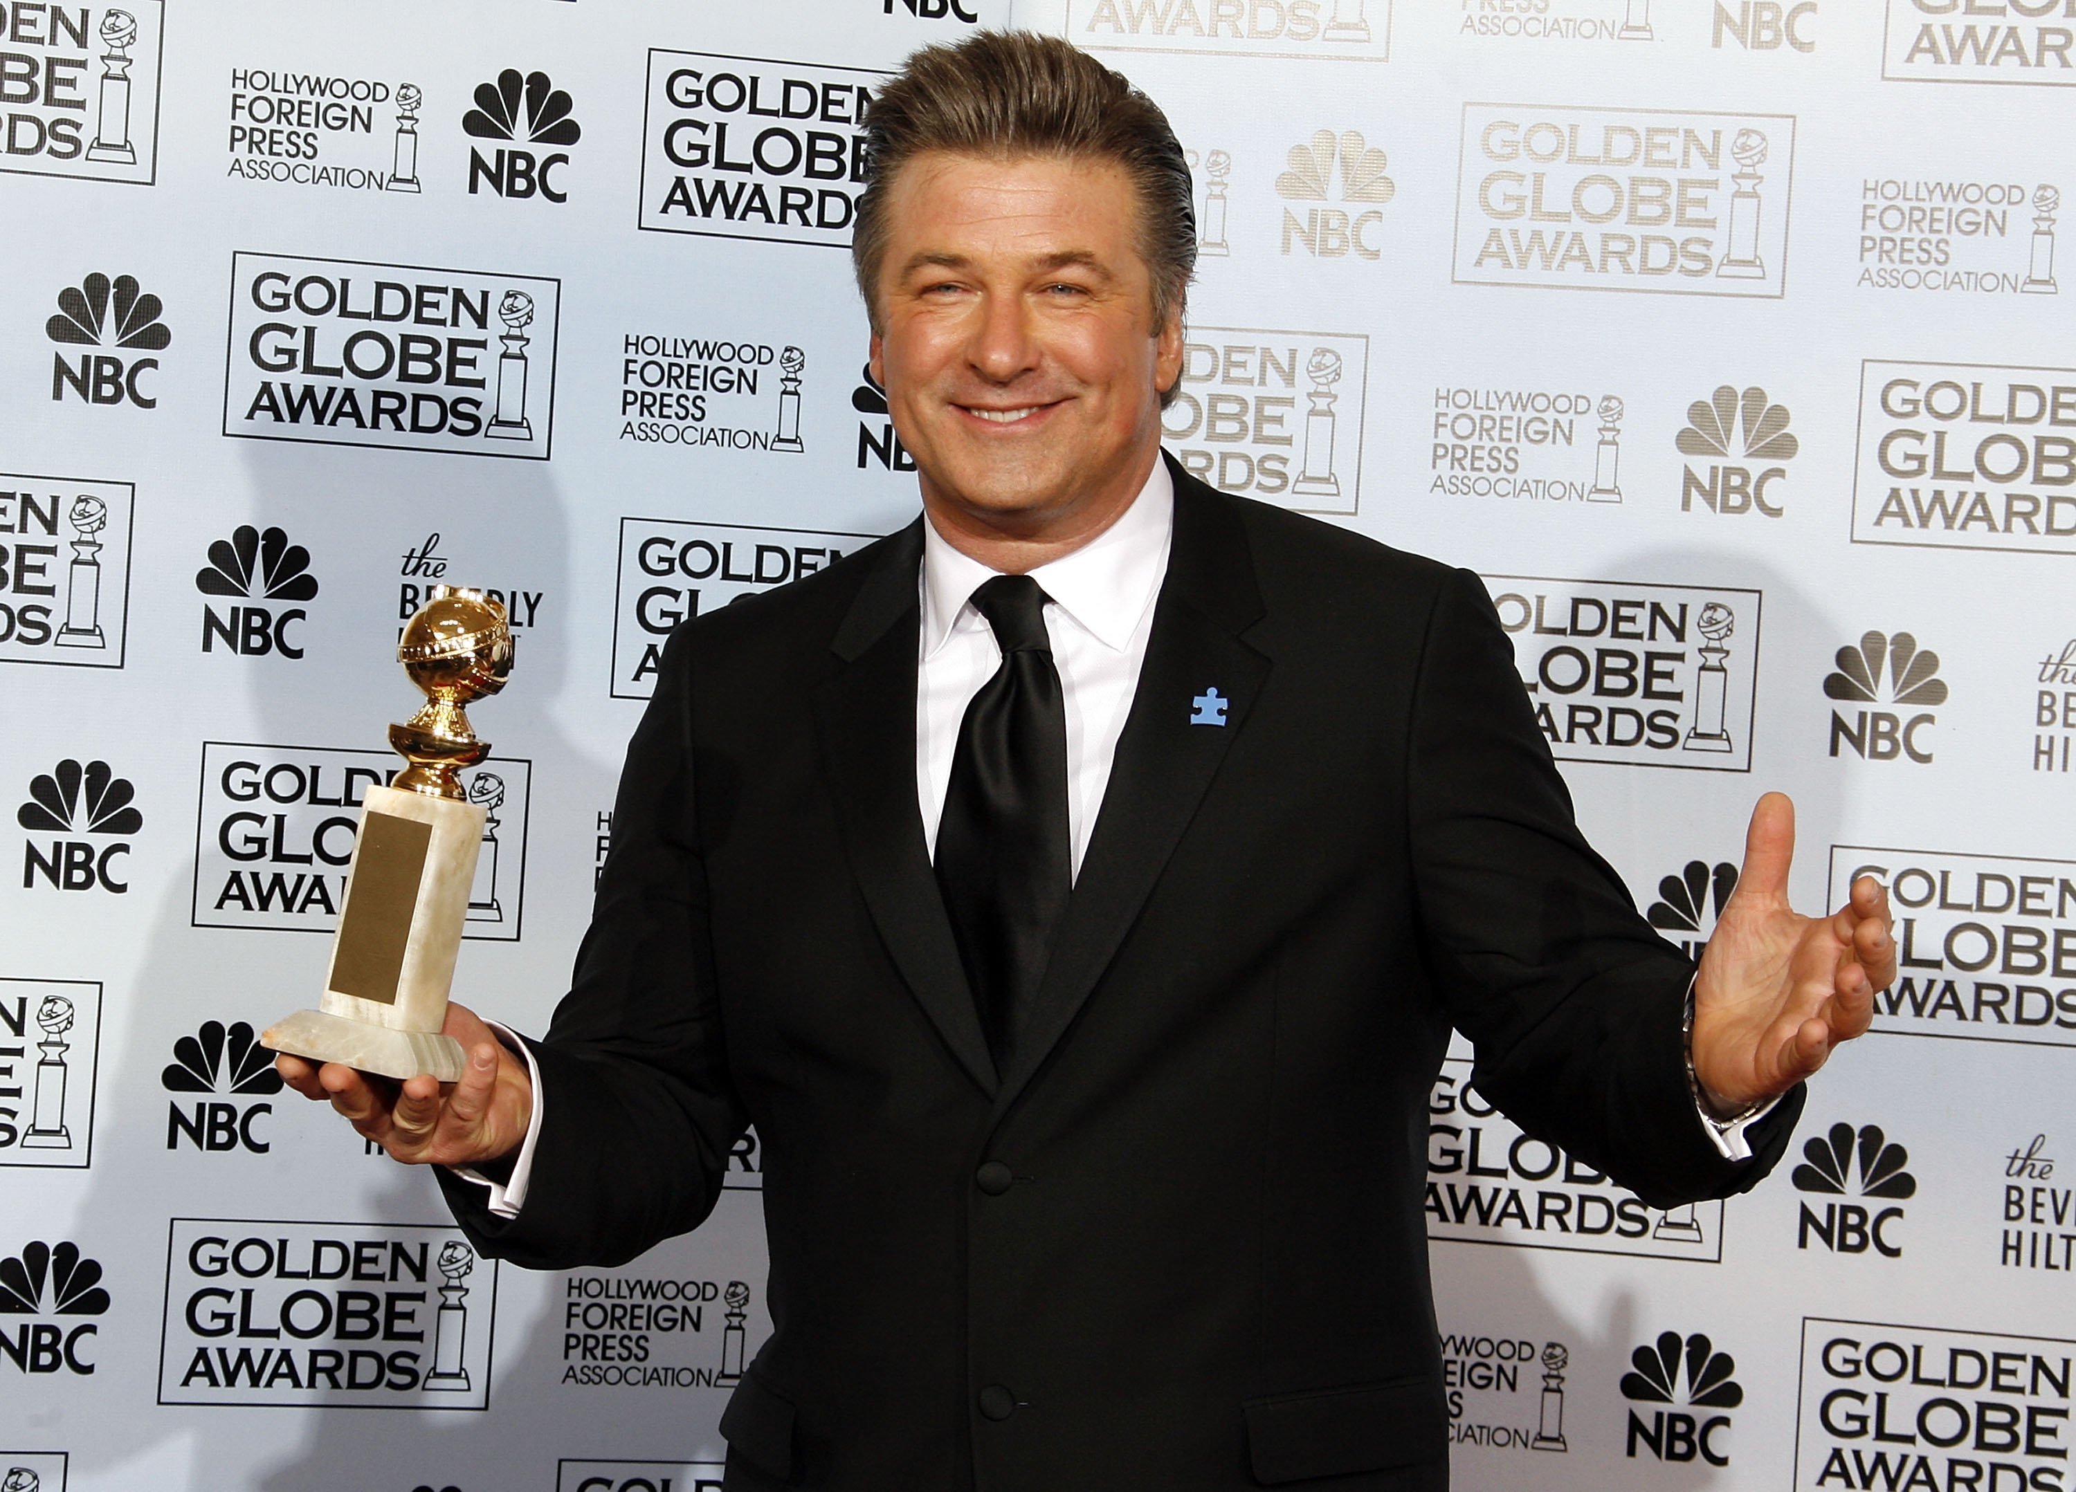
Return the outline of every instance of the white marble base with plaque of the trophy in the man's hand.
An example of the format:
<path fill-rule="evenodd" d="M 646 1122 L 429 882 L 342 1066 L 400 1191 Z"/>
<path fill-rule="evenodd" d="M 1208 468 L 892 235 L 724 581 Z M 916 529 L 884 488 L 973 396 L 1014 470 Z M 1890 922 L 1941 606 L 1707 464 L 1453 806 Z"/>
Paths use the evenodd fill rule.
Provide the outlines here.
<path fill-rule="evenodd" d="M 324 998 L 262 1031 L 264 1046 L 384 1077 L 461 1077 L 461 1044 L 440 1027 L 484 818 L 475 803 L 367 789 Z"/>

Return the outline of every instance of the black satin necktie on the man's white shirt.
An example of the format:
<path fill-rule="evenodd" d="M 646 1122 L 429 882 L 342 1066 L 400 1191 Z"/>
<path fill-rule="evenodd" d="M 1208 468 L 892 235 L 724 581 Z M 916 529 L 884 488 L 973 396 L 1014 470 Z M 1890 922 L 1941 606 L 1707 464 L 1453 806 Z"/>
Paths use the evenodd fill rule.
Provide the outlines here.
<path fill-rule="evenodd" d="M 974 591 L 1003 664 L 959 722 L 936 830 L 936 884 L 996 1069 L 1038 994 L 1071 884 L 1067 708 L 1046 600 L 1030 575 L 996 575 Z"/>

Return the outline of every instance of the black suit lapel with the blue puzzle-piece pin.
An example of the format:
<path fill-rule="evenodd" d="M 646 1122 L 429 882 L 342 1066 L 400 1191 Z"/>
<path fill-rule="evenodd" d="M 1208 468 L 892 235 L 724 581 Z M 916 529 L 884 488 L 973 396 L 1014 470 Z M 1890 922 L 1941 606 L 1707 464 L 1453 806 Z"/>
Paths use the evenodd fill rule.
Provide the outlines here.
<path fill-rule="evenodd" d="M 996 1112 L 1015 1102 L 1111 965 L 1268 676 L 1268 658 L 1239 639 L 1262 614 L 1246 531 L 1231 504 L 1173 461 L 1169 469 L 1175 537 L 1140 687 Z M 1192 720 L 1208 689 L 1229 701 L 1223 726 Z"/>

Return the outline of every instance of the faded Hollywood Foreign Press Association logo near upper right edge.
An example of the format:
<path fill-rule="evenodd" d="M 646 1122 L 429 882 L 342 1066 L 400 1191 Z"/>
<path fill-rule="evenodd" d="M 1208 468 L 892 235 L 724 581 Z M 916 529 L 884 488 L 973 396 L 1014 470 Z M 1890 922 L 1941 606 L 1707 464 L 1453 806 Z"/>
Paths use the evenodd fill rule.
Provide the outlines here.
<path fill-rule="evenodd" d="M 1864 291 L 2059 295 L 2061 189 L 2016 181 L 1866 178 L 1860 185 Z"/>

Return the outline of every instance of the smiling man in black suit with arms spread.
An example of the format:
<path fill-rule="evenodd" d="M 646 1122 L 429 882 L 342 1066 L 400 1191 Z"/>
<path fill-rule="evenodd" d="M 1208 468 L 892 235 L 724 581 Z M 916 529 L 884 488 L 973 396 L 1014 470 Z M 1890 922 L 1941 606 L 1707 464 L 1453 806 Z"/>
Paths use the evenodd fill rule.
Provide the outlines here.
<path fill-rule="evenodd" d="M 544 1042 L 455 1006 L 450 1092 L 282 1073 L 465 1168 L 531 1268 L 695 1226 L 754 1123 L 731 1492 L 1443 1488 L 1449 1027 L 1648 1201 L 1736 1193 L 1891 977 L 1881 890 L 1792 913 L 1771 795 L 1696 979 L 1574 828 L 1476 577 L 1160 457 L 1190 176 L 1123 79 L 932 48 L 872 170 L 926 517 L 671 639 Z"/>

